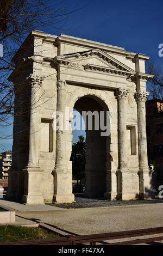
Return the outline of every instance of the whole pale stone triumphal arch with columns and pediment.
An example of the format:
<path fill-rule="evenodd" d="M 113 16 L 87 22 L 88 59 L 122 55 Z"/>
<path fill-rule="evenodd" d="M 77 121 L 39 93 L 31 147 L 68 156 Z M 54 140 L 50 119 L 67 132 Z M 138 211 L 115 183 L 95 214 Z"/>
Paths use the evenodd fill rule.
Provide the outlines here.
<path fill-rule="evenodd" d="M 65 108 L 110 113 L 110 133 L 101 136 L 100 127 L 86 128 L 85 196 L 153 196 L 146 142 L 146 81 L 152 77 L 145 72 L 147 59 L 64 34 L 29 34 L 12 59 L 15 70 L 9 77 L 15 84 L 10 199 L 26 204 L 74 201 L 72 131 L 66 129 L 72 115 Z M 61 129 L 55 129 L 58 113 L 65 120 Z"/>

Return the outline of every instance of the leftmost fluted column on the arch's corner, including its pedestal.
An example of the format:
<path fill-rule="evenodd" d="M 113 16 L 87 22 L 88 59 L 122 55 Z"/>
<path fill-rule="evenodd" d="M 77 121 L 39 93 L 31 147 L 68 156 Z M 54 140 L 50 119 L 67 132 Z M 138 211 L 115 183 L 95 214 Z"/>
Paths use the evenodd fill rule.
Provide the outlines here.
<path fill-rule="evenodd" d="M 29 127 L 29 156 L 28 165 L 24 172 L 24 196 L 22 202 L 26 204 L 43 204 L 41 193 L 42 170 L 39 167 L 39 91 L 42 78 L 38 75 L 29 76 L 31 86 L 30 127 Z"/>

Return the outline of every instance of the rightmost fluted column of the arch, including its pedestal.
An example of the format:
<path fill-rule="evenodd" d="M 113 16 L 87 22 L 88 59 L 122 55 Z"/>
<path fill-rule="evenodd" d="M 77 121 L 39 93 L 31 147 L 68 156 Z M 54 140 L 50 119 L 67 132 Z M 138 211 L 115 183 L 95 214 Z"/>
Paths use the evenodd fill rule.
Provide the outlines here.
<path fill-rule="evenodd" d="M 147 92 L 136 92 L 137 119 L 138 119 L 138 144 L 139 144 L 139 197 L 153 198 L 152 173 L 148 167 L 147 159 L 147 137 L 146 137 L 146 99 Z"/>

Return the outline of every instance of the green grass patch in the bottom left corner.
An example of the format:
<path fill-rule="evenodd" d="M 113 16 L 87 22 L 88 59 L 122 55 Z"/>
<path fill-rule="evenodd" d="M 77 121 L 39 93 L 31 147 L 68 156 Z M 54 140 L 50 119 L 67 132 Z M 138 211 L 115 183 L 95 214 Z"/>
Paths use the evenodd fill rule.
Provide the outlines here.
<path fill-rule="evenodd" d="M 52 239 L 59 235 L 35 227 L 21 227 L 16 225 L 0 225 L 0 242 L 26 241 L 36 239 Z"/>

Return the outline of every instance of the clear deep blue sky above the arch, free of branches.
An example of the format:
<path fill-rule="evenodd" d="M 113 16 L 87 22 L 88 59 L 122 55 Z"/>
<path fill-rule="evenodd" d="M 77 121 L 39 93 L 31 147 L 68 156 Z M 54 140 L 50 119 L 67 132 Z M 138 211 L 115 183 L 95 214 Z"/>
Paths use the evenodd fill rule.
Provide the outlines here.
<path fill-rule="evenodd" d="M 62 5 L 66 4 L 75 9 L 89 2 L 66 0 Z M 162 0 L 92 0 L 85 8 L 70 14 L 68 21 L 59 31 L 52 27 L 43 27 L 40 30 L 55 35 L 63 33 L 121 46 L 127 51 L 144 53 L 159 65 L 163 62 L 163 57 L 158 55 L 158 46 L 163 44 L 162 10 Z M 10 131 L 11 129 L 9 127 Z M 83 132 L 73 132 L 73 142 L 80 134 Z M 11 143 L 11 141 L 1 141 L 1 144 L 9 149 Z"/>

